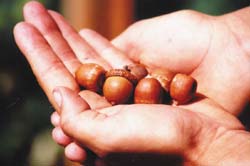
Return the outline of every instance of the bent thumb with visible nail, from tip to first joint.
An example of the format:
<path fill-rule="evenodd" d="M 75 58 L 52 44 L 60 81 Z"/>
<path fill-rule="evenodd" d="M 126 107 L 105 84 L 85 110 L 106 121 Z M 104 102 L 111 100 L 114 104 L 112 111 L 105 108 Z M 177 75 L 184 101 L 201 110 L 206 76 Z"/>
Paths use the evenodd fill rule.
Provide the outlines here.
<path fill-rule="evenodd" d="M 61 109 L 60 124 L 63 131 L 84 146 L 91 147 L 93 137 L 106 115 L 90 110 L 88 103 L 68 88 L 57 87 L 53 95 Z"/>

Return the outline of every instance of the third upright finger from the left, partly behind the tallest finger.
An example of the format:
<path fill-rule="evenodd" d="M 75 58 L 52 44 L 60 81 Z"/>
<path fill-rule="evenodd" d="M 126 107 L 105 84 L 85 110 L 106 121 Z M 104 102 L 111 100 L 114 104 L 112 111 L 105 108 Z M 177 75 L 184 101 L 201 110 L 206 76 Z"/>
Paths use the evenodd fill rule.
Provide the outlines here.
<path fill-rule="evenodd" d="M 63 37 L 82 63 L 97 63 L 105 69 L 110 68 L 110 65 L 67 23 L 62 15 L 55 11 L 49 11 L 49 14 L 57 23 Z"/>

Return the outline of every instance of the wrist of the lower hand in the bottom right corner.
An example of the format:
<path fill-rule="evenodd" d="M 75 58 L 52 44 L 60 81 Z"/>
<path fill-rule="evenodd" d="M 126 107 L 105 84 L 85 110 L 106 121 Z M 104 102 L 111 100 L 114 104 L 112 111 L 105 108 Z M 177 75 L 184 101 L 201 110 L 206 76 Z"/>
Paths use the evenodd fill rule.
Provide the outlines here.
<path fill-rule="evenodd" d="M 250 165 L 250 133 L 244 130 L 223 131 L 207 147 L 199 161 L 207 165 Z"/>

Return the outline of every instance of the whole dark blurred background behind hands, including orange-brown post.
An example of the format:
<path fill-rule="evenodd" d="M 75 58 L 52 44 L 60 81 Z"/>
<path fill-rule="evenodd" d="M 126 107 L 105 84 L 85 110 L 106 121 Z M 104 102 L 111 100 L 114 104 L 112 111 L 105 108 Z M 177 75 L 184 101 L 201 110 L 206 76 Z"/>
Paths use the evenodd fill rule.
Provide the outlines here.
<path fill-rule="evenodd" d="M 0 165 L 63 166 L 62 149 L 51 139 L 53 107 L 15 45 L 12 29 L 28 0 L 0 0 Z M 221 15 L 249 0 L 40 0 L 77 29 L 92 28 L 111 39 L 131 23 L 181 9 Z M 249 107 L 246 108 L 249 110 Z M 240 119 L 249 129 L 250 111 Z M 68 163 L 68 164 L 67 164 Z"/>

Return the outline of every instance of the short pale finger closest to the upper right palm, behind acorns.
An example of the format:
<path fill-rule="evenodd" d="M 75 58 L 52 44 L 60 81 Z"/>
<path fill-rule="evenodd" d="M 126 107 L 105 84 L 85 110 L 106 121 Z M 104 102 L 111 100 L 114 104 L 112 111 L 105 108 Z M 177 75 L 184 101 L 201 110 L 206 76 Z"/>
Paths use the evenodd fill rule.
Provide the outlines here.
<path fill-rule="evenodd" d="M 113 68 L 122 68 L 133 63 L 123 52 L 97 32 L 83 29 L 79 33 Z"/>

